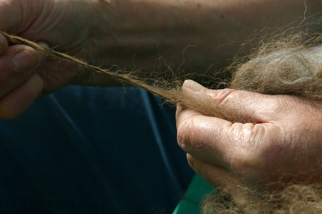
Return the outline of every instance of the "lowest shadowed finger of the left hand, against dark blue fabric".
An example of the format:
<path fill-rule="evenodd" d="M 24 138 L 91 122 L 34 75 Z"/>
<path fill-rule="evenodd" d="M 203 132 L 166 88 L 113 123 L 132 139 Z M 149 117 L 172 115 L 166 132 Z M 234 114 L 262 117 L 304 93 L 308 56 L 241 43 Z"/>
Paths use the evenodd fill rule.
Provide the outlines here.
<path fill-rule="evenodd" d="M 6 96 L 0 98 L 0 118 L 16 118 L 26 111 L 43 88 L 41 77 L 33 73 L 30 78 Z"/>

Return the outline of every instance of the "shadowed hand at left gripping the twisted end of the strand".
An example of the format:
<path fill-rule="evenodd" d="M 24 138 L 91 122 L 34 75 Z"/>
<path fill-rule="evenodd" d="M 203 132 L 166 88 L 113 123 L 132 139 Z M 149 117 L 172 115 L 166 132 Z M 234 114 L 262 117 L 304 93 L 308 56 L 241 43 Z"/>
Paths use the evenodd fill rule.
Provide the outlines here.
<path fill-rule="evenodd" d="M 0 0 L 0 30 L 88 61 L 99 55 L 99 48 L 89 46 L 95 23 L 90 4 L 94 1 Z M 8 46 L 1 34 L 0 46 L 0 118 L 19 116 L 38 96 L 82 76 L 78 66 L 46 60 L 29 46 Z"/>

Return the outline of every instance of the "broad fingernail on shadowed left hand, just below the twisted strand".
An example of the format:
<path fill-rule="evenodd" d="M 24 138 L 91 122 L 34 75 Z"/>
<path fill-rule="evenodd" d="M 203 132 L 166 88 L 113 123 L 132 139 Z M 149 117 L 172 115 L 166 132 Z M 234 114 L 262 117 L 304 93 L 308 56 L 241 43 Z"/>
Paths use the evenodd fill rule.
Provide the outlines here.
<path fill-rule="evenodd" d="M 27 50 L 23 50 L 13 55 L 11 64 L 16 70 L 26 70 L 36 65 L 36 59 Z"/>

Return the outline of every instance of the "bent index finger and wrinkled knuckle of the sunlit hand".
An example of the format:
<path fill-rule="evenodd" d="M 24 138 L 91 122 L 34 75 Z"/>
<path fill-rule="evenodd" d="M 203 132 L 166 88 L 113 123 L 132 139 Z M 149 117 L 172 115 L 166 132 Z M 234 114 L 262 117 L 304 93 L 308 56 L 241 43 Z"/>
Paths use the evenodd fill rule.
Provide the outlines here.
<path fill-rule="evenodd" d="M 187 109 L 177 116 L 179 146 L 187 153 L 228 171 L 263 164 L 258 151 L 264 149 L 266 142 L 274 140 L 269 135 L 272 131 L 279 133 L 280 130 L 270 123 L 231 123 Z"/>

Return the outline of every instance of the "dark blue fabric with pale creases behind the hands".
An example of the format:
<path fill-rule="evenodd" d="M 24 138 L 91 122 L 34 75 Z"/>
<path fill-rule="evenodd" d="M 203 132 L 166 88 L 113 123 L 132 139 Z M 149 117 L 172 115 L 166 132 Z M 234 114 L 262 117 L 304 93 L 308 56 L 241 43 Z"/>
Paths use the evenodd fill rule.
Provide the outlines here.
<path fill-rule="evenodd" d="M 0 213 L 171 213 L 193 177 L 174 113 L 141 89 L 68 86 L 0 120 Z"/>

